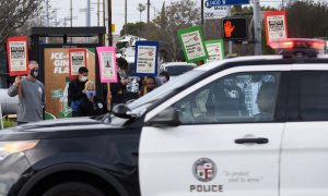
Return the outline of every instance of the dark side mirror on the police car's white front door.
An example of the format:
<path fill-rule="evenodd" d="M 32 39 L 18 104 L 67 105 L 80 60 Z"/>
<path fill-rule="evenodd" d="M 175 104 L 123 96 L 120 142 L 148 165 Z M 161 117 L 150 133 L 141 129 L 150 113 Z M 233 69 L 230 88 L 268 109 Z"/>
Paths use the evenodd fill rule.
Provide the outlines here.
<path fill-rule="evenodd" d="M 147 125 L 163 127 L 163 126 L 178 126 L 179 121 L 178 112 L 175 108 L 166 108 L 164 111 L 152 118 L 147 122 Z"/>

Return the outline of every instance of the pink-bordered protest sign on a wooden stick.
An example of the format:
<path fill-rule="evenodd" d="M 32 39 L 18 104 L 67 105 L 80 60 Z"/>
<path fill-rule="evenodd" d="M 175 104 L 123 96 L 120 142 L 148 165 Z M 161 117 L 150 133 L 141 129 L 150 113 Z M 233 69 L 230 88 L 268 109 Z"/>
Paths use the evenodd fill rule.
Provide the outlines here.
<path fill-rule="evenodd" d="M 101 83 L 117 83 L 115 47 L 97 47 Z"/>

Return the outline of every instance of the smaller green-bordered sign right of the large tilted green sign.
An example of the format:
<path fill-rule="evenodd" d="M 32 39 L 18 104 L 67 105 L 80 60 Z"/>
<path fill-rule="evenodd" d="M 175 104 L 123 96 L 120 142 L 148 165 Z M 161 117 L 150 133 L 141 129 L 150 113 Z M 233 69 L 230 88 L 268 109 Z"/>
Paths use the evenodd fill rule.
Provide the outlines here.
<path fill-rule="evenodd" d="M 207 60 L 207 62 L 224 59 L 224 47 L 222 39 L 206 40 L 204 45 L 209 54 L 209 59 Z"/>

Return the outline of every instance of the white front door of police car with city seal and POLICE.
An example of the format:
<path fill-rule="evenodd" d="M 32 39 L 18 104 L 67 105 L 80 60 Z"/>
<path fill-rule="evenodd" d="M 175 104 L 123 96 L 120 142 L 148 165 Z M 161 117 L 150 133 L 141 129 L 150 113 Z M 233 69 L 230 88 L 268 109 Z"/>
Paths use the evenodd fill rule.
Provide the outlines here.
<path fill-rule="evenodd" d="M 278 196 L 284 126 L 278 121 L 282 108 L 278 98 L 285 86 L 281 71 L 289 65 L 273 68 L 222 71 L 150 111 L 145 122 L 174 109 L 180 124 L 143 127 L 139 150 L 142 195 Z M 260 81 L 251 81 L 259 76 Z M 267 103 L 261 106 L 267 108 L 263 114 L 256 112 L 260 86 L 271 88 L 267 94 L 271 101 L 262 101 Z"/>

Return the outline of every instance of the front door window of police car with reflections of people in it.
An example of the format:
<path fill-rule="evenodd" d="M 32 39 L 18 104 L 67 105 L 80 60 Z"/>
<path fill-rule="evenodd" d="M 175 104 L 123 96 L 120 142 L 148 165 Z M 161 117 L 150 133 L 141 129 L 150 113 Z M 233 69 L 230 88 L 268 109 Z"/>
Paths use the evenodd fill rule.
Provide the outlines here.
<path fill-rule="evenodd" d="M 173 107 L 183 124 L 273 121 L 278 72 L 238 73 L 219 78 Z"/>

